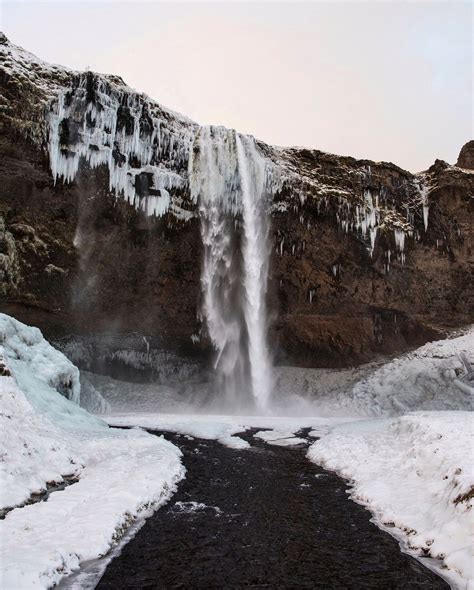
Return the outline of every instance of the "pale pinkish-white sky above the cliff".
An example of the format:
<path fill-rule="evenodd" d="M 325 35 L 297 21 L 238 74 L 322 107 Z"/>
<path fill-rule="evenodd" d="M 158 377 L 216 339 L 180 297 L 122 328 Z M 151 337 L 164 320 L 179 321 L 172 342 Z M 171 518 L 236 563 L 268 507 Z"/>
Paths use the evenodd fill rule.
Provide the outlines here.
<path fill-rule="evenodd" d="M 1 28 L 199 123 L 418 171 L 454 163 L 473 136 L 472 12 L 456 0 L 3 0 Z"/>

